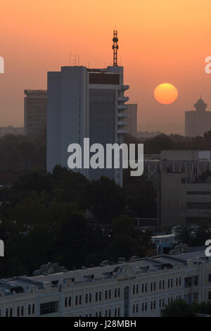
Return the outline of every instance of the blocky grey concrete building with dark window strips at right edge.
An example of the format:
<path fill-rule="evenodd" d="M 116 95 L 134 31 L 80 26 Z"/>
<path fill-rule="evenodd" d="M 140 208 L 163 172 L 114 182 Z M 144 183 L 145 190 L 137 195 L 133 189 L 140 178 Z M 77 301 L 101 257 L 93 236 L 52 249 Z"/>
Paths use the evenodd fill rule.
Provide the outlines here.
<path fill-rule="evenodd" d="M 158 229 L 211 223 L 210 151 L 162 151 Z"/>

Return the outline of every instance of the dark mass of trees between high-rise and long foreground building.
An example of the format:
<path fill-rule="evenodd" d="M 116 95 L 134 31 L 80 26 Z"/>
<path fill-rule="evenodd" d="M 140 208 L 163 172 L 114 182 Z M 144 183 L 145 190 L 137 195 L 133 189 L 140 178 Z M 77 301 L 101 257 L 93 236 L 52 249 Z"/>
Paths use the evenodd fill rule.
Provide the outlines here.
<path fill-rule="evenodd" d="M 131 212 L 136 206 L 139 213 L 143 187 L 140 192 L 136 187 L 136 201 L 129 194 L 107 177 L 89 182 L 60 166 L 52 174 L 37 170 L 21 175 L 12 187 L 0 189 L 0 238 L 5 243 L 1 277 L 31 274 L 48 261 L 71 269 L 145 256 L 152 247 L 151 233 L 134 230 Z M 151 196 L 148 201 L 153 205 Z M 87 210 L 95 225 L 87 220 Z"/>

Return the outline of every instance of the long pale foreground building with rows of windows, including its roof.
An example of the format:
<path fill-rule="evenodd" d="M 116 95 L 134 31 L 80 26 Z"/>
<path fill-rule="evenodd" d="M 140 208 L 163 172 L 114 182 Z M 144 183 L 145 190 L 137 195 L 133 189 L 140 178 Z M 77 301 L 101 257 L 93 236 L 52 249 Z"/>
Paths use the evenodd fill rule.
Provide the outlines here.
<path fill-rule="evenodd" d="M 211 299 L 205 251 L 0 281 L 1 317 L 160 316 L 176 299 Z"/>

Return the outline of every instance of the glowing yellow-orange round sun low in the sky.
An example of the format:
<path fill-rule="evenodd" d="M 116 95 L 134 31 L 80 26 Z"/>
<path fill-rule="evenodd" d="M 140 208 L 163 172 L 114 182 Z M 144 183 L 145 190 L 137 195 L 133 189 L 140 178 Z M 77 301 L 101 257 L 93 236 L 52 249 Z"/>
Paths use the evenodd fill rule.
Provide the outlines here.
<path fill-rule="evenodd" d="M 178 96 L 176 87 L 170 83 L 162 83 L 155 88 L 154 97 L 160 104 L 172 104 Z"/>

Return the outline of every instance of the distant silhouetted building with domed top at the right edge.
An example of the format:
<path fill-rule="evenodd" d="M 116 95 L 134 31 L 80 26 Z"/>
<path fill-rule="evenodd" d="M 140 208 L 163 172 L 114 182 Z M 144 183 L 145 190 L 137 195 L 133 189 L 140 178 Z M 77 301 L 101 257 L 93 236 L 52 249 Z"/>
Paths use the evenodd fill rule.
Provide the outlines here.
<path fill-rule="evenodd" d="M 185 135 L 188 137 L 203 136 L 211 130 L 211 111 L 206 111 L 207 104 L 198 99 L 194 107 L 196 111 L 185 112 Z"/>

